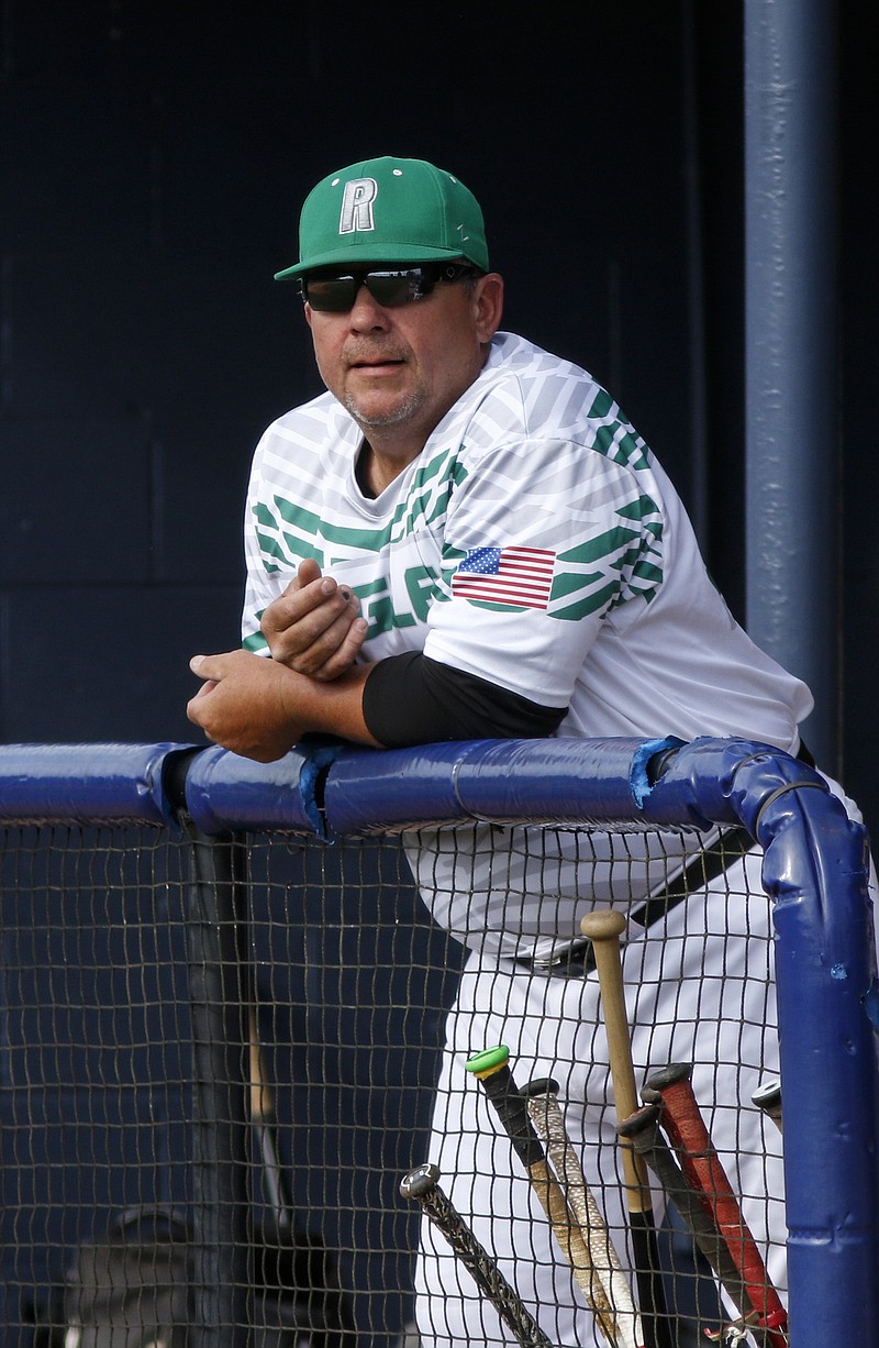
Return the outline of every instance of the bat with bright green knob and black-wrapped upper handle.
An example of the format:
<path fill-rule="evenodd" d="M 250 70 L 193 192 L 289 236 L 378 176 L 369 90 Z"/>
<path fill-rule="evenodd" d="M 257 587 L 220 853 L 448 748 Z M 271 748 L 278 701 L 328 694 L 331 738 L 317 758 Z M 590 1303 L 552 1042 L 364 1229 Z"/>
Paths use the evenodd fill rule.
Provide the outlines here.
<path fill-rule="evenodd" d="M 583 1291 L 602 1335 L 608 1344 L 619 1344 L 622 1348 L 611 1308 L 604 1304 L 606 1298 L 602 1297 L 600 1289 L 598 1289 L 598 1298 L 595 1295 L 590 1250 L 547 1161 L 544 1146 L 528 1113 L 528 1105 L 513 1081 L 509 1068 L 509 1049 L 506 1045 L 485 1049 L 470 1058 L 466 1066 L 467 1072 L 471 1072 L 485 1086 L 485 1092 L 513 1143 L 513 1150 L 525 1166 L 532 1188 L 549 1219 L 552 1232 L 573 1270 L 577 1286 Z"/>

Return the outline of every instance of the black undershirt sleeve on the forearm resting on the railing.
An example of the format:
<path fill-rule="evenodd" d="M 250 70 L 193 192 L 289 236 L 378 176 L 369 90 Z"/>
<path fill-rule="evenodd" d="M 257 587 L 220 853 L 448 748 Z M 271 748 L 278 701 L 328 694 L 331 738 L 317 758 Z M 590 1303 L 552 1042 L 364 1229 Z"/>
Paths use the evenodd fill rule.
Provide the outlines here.
<path fill-rule="evenodd" d="M 442 665 L 421 651 L 378 661 L 363 685 L 363 718 L 380 744 L 544 739 L 567 708 L 541 706 L 497 683 Z"/>

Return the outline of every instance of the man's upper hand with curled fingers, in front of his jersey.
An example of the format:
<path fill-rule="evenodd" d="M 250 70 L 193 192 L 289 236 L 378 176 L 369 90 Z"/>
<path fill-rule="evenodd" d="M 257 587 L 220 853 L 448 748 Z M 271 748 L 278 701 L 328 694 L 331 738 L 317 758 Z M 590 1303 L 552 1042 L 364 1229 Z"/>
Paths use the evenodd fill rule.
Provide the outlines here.
<path fill-rule="evenodd" d="M 367 621 L 346 585 L 322 576 L 312 558 L 262 613 L 262 636 L 272 658 L 299 674 L 328 682 L 345 674 L 361 652 Z"/>

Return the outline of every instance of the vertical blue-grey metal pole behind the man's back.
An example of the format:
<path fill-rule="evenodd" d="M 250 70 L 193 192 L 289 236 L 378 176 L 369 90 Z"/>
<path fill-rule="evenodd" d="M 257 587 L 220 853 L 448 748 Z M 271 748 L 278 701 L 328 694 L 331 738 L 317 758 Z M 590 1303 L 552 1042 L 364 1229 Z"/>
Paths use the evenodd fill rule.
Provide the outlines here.
<path fill-rule="evenodd" d="M 839 772 L 835 47 L 833 0 L 746 0 L 746 620 Z"/>

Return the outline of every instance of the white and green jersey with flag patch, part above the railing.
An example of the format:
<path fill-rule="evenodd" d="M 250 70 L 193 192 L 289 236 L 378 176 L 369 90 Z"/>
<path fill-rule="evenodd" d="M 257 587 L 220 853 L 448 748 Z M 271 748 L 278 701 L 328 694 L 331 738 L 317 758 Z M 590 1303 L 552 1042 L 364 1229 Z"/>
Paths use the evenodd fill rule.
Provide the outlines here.
<path fill-rule="evenodd" d="M 809 690 L 759 651 L 682 504 L 583 369 L 499 333 L 477 381 L 377 499 L 330 394 L 279 418 L 248 496 L 244 643 L 314 557 L 369 619 L 363 658 L 424 650 L 534 702 L 560 735 L 797 744 Z"/>

